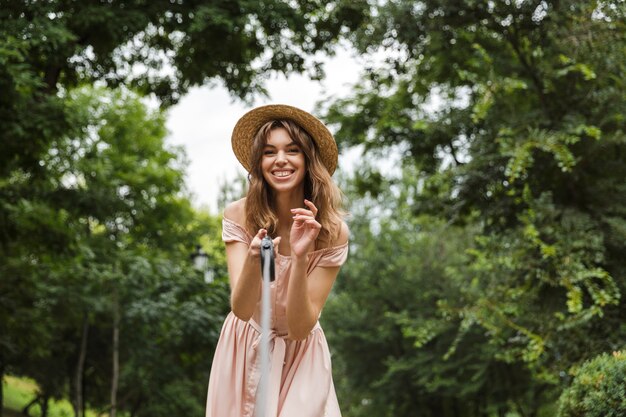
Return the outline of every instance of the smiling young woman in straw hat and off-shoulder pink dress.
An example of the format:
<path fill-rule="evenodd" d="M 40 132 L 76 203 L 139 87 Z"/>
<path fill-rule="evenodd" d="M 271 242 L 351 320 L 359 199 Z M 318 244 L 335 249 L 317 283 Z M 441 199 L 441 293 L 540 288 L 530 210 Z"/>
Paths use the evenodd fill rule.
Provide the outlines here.
<path fill-rule="evenodd" d="M 224 210 L 232 312 L 213 358 L 206 415 L 258 413 L 260 243 L 269 234 L 277 251 L 263 415 L 340 416 L 328 344 L 318 323 L 348 255 L 341 193 L 331 178 L 335 140 L 309 113 L 270 105 L 237 122 L 232 145 L 250 184 L 246 198 Z"/>

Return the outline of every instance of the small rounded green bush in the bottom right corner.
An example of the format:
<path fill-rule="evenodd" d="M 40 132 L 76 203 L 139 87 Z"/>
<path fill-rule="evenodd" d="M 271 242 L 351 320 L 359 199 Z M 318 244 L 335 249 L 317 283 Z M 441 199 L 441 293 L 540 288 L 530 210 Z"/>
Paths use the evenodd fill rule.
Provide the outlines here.
<path fill-rule="evenodd" d="M 626 351 L 603 353 L 574 372 L 563 391 L 559 417 L 626 416 Z"/>

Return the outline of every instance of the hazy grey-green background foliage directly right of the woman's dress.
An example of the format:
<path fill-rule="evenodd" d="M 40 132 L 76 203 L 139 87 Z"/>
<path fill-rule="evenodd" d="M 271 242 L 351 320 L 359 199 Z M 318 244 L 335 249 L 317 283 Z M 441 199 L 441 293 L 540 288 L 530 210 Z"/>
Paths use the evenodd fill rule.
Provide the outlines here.
<path fill-rule="evenodd" d="M 345 187 L 351 255 L 322 316 L 344 413 L 537 412 L 552 389 L 532 384 L 519 362 L 498 356 L 471 315 L 451 308 L 467 298 L 464 248 L 476 231 L 415 217 L 420 182 L 407 169 L 375 198 L 357 198 L 352 181 Z"/>

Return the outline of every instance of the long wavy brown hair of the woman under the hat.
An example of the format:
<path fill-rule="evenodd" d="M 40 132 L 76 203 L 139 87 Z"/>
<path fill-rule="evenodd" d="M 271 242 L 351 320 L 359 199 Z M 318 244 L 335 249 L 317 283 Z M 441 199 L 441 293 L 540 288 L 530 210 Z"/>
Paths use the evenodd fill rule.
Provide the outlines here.
<path fill-rule="evenodd" d="M 304 177 L 304 198 L 315 204 L 318 209 L 316 219 L 322 225 L 315 246 L 317 249 L 329 247 L 341 230 L 344 216 L 341 208 L 342 194 L 322 163 L 315 141 L 291 120 L 269 121 L 261 126 L 254 137 L 252 169 L 248 175 L 249 187 L 245 204 L 246 227 L 253 235 L 260 228 L 267 229 L 270 236 L 274 236 L 278 230 L 274 193 L 263 178 L 261 159 L 270 132 L 280 128 L 287 130 L 291 140 L 304 154 L 307 171 Z"/>

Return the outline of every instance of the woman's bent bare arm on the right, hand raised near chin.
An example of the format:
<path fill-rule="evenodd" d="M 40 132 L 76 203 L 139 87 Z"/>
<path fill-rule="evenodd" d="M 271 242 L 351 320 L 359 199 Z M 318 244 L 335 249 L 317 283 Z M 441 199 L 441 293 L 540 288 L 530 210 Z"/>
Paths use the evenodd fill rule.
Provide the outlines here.
<path fill-rule="evenodd" d="M 310 201 L 305 200 L 305 204 L 311 210 L 295 210 L 290 235 L 291 276 L 287 292 L 287 326 L 288 337 L 294 340 L 303 340 L 309 335 L 339 273 L 338 266 L 318 266 L 311 274 L 306 274 L 308 256 L 315 246 L 321 226 L 315 220 L 317 208 Z M 342 223 L 339 238 L 333 246 L 347 241 L 348 227 Z"/>

